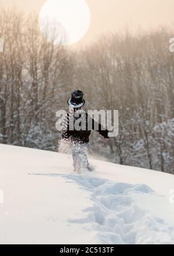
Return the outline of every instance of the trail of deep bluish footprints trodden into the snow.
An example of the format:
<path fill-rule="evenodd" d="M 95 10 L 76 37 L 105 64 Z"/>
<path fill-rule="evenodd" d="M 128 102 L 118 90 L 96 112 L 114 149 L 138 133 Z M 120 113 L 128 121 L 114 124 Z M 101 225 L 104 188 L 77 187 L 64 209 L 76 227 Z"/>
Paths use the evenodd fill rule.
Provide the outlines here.
<path fill-rule="evenodd" d="M 37 175 L 37 174 L 36 174 Z M 42 175 L 42 174 L 38 174 Z M 47 174 L 43 174 L 47 175 Z M 88 190 L 93 206 L 84 209 L 85 219 L 70 219 L 71 223 L 95 229 L 98 243 L 105 244 L 173 244 L 174 229 L 162 218 L 151 215 L 139 207 L 135 195 L 158 194 L 145 184 L 115 183 L 89 175 L 57 175 L 76 182 Z M 76 198 L 78 200 L 78 198 Z M 143 200 L 143 197 L 142 197 Z"/>

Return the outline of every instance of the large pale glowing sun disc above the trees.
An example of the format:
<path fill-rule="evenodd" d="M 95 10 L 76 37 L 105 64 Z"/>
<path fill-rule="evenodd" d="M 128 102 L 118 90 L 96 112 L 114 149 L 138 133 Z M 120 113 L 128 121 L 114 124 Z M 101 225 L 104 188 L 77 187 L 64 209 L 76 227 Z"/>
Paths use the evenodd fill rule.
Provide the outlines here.
<path fill-rule="evenodd" d="M 88 31 L 90 10 L 85 0 L 47 0 L 38 22 L 42 35 L 48 41 L 71 45 Z"/>

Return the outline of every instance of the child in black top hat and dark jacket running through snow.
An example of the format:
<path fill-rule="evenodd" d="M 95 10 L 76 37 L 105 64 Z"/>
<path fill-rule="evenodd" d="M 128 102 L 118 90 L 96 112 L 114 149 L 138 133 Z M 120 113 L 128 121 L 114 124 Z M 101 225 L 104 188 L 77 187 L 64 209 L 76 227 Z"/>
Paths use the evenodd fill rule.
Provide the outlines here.
<path fill-rule="evenodd" d="M 97 131 L 106 140 L 108 139 L 108 130 L 104 129 L 103 126 L 97 123 L 87 113 L 85 113 L 84 110 L 81 109 L 85 104 L 83 96 L 84 93 L 82 93 L 82 91 L 75 90 L 73 93 L 71 93 L 71 98 L 68 98 L 67 102 L 71 109 L 67 113 L 66 118 L 64 118 L 62 133 L 63 139 L 70 141 L 74 162 L 74 172 L 78 173 L 81 171 L 81 167 L 88 169 L 90 172 L 92 171 L 86 155 L 91 130 L 98 127 Z M 77 129 L 77 127 L 74 126 L 75 121 L 77 121 L 77 123 L 79 121 L 79 126 L 82 127 L 83 125 L 83 129 Z M 92 124 L 91 129 L 88 125 L 89 122 Z M 70 129 L 72 125 L 73 130 Z"/>

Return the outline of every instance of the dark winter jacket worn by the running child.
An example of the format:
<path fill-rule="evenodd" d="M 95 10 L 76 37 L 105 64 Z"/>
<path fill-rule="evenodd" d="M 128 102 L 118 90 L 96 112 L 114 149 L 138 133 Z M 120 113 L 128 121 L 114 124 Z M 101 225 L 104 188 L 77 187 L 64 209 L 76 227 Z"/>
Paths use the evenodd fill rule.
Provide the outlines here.
<path fill-rule="evenodd" d="M 104 129 L 102 125 L 97 123 L 94 119 L 92 119 L 88 113 L 85 113 L 83 110 L 79 110 L 80 113 L 78 118 L 74 116 L 73 113 L 67 113 L 66 117 L 63 120 L 63 133 L 62 137 L 65 139 L 70 139 L 73 141 L 78 141 L 79 143 L 89 143 L 89 136 L 91 130 L 97 130 L 104 138 L 108 138 L 108 130 Z M 70 129 L 70 122 L 73 122 L 73 125 L 75 121 L 77 121 L 79 118 L 84 118 L 83 124 L 85 124 L 85 129 L 81 130 L 71 130 Z M 88 122 L 91 122 L 92 127 L 88 126 Z M 79 120 L 79 125 L 81 126 L 81 122 Z M 96 126 L 98 126 L 98 129 L 96 129 Z M 91 129 L 90 129 L 91 128 Z"/>

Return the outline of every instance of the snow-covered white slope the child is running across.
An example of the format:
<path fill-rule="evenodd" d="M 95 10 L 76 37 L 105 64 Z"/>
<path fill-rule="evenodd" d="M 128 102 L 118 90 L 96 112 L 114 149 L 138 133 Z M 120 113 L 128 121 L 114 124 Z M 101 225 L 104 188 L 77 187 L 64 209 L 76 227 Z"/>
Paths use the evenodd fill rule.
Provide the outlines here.
<path fill-rule="evenodd" d="M 174 176 L 0 145 L 0 243 L 174 244 Z"/>

